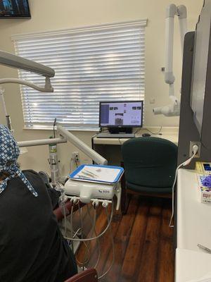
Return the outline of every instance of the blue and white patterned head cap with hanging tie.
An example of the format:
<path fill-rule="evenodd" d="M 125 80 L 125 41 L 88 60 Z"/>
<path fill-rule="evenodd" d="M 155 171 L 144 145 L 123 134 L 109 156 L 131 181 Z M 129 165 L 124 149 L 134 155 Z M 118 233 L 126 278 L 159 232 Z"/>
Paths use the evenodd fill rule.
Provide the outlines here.
<path fill-rule="evenodd" d="M 11 132 L 6 126 L 0 124 L 0 172 L 6 171 L 10 174 L 8 178 L 0 183 L 0 193 L 6 189 L 8 180 L 18 176 L 30 192 L 37 197 L 38 194 L 32 187 L 30 181 L 27 180 L 23 172 L 18 168 L 17 159 L 19 154 L 18 144 L 13 135 L 11 135 Z"/>

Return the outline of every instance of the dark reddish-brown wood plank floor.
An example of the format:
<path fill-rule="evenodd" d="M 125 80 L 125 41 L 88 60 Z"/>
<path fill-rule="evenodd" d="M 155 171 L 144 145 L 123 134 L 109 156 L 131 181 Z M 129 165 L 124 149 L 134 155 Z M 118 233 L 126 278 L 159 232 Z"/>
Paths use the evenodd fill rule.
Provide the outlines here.
<path fill-rule="evenodd" d="M 84 214 L 86 208 L 83 208 Z M 96 232 L 106 227 L 105 210 L 98 208 Z M 174 250 L 173 231 L 168 227 L 171 214 L 169 199 L 148 198 L 132 195 L 126 215 L 115 212 L 112 230 L 115 241 L 115 262 L 103 281 L 113 282 L 173 282 Z M 77 215 L 75 216 L 75 219 Z M 84 216 L 85 233 L 91 236 L 91 221 Z M 100 240 L 101 259 L 96 267 L 98 276 L 108 269 L 112 262 L 110 233 Z M 93 267 L 98 257 L 95 241 L 89 245 L 89 263 Z M 77 259 L 84 257 L 84 245 L 77 252 Z"/>

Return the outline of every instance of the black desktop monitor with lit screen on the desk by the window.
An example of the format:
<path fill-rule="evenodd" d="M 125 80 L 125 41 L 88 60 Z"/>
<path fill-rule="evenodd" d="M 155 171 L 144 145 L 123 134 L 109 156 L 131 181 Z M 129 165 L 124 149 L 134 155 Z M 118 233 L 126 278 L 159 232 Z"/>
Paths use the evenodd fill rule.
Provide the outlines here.
<path fill-rule="evenodd" d="M 141 127 L 143 121 L 143 101 L 100 102 L 99 126 Z"/>

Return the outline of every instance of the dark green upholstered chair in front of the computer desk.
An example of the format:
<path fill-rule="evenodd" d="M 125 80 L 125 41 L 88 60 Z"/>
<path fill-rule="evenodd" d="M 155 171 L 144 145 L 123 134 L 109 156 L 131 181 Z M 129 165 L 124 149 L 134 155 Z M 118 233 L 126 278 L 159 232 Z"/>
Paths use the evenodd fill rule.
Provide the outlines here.
<path fill-rule="evenodd" d="M 122 145 L 122 214 L 127 212 L 127 192 L 171 197 L 177 168 L 177 146 L 158 137 L 138 137 Z"/>

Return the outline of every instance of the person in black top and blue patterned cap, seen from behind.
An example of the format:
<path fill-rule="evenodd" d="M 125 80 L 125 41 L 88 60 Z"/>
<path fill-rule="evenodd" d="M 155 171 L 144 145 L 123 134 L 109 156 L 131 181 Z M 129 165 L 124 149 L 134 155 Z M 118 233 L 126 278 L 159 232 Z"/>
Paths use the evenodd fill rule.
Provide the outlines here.
<path fill-rule="evenodd" d="M 18 145 L 0 125 L 0 281 L 63 282 L 77 273 L 38 173 L 20 171 Z"/>

